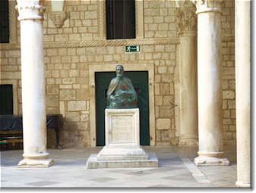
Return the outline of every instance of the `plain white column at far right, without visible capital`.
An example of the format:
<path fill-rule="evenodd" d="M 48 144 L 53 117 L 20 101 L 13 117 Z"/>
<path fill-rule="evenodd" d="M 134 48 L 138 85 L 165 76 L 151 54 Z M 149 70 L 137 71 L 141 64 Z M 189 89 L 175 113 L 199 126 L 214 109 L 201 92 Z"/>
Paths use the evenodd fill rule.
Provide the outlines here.
<path fill-rule="evenodd" d="M 250 187 L 250 1 L 235 1 L 237 182 Z"/>

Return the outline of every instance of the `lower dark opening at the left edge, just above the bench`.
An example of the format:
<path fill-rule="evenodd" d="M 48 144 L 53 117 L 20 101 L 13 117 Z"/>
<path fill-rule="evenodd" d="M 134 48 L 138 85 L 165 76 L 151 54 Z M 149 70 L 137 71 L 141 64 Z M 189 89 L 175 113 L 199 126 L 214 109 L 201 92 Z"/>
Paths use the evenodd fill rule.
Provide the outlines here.
<path fill-rule="evenodd" d="M 0 115 L 5 114 L 14 114 L 12 85 L 0 85 Z"/>

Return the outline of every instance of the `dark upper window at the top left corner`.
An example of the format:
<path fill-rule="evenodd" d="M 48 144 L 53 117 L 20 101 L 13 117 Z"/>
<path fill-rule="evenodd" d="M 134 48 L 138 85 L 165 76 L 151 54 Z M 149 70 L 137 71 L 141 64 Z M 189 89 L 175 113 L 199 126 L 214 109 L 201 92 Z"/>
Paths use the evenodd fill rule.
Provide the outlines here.
<path fill-rule="evenodd" d="M 0 0 L 0 43 L 9 43 L 8 0 Z"/>

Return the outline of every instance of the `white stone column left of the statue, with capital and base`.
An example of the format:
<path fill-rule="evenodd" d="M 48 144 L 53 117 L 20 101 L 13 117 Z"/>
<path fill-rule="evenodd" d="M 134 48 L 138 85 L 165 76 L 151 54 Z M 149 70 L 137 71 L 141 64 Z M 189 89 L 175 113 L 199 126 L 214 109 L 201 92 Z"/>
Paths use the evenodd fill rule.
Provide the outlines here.
<path fill-rule="evenodd" d="M 43 11 L 40 1 L 17 0 L 21 21 L 21 82 L 24 160 L 18 167 L 49 167 L 43 65 Z"/>

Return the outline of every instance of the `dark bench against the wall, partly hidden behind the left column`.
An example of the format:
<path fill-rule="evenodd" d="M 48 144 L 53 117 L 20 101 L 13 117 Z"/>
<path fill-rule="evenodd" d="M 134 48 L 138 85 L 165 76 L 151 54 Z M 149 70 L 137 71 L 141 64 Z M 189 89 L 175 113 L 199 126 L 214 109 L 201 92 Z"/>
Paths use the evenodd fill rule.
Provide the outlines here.
<path fill-rule="evenodd" d="M 59 148 L 59 132 L 63 126 L 62 114 L 46 116 L 46 128 L 55 130 L 55 148 Z M 0 115 L 0 144 L 11 144 L 23 142 L 23 125 L 21 115 Z"/>

